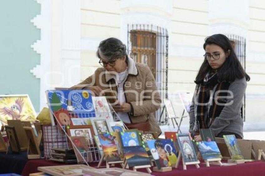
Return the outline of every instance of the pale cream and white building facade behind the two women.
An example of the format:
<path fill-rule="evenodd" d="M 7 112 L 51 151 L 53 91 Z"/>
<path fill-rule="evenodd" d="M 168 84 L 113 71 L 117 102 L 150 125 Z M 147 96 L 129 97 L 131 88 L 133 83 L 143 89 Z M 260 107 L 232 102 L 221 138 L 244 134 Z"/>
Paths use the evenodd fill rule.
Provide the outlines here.
<path fill-rule="evenodd" d="M 128 41 L 128 25 L 153 25 L 167 31 L 168 97 L 176 115 L 183 110 L 177 93 L 193 93 L 195 89 L 195 76 L 204 59 L 205 37 L 222 33 L 245 41 L 241 52 L 251 81 L 246 90 L 244 130 L 265 128 L 265 1 L 37 2 L 41 3 L 41 15 L 33 22 L 41 29 L 41 40 L 34 47 L 41 54 L 41 64 L 31 72 L 41 79 L 41 108 L 46 106 L 45 90 L 70 87 L 94 73 L 100 66 L 95 55 L 100 41 L 116 37 L 128 44 L 132 42 Z M 155 64 L 158 67 L 160 63 Z M 185 118 L 182 129 L 187 130 L 188 124 L 189 118 Z"/>

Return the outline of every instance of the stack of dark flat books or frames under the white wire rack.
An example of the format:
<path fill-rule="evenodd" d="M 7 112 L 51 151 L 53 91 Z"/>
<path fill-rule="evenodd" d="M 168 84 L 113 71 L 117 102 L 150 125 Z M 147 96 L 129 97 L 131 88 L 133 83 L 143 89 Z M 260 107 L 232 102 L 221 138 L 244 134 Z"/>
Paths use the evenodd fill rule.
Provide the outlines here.
<path fill-rule="evenodd" d="M 75 152 L 73 149 L 61 149 L 61 148 L 51 148 L 50 152 L 51 161 L 57 161 L 62 163 L 75 163 L 77 162 Z"/>

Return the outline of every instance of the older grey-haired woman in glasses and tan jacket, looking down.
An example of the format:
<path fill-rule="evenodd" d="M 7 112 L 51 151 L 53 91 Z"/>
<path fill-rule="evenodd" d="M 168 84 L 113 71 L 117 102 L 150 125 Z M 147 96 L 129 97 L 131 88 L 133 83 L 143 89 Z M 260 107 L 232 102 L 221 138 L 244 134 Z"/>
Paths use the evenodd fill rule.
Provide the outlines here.
<path fill-rule="evenodd" d="M 158 137 L 161 130 L 153 113 L 159 109 L 161 99 L 150 68 L 128 58 L 126 46 L 116 38 L 101 41 L 97 57 L 103 67 L 70 89 L 89 89 L 96 96 L 112 89 L 118 99 L 113 109 L 127 127 L 155 132 Z"/>

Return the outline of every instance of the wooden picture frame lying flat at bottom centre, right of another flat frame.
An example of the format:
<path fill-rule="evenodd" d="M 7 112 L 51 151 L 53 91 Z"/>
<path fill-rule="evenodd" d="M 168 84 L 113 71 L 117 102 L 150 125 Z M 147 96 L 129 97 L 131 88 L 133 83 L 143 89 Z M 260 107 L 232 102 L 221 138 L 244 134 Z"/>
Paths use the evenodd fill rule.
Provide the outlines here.
<path fill-rule="evenodd" d="M 97 175 L 97 176 L 112 176 L 112 175 L 132 175 L 132 176 L 151 176 L 144 172 L 138 172 L 121 168 L 102 168 L 102 169 L 84 169 L 84 174 Z"/>

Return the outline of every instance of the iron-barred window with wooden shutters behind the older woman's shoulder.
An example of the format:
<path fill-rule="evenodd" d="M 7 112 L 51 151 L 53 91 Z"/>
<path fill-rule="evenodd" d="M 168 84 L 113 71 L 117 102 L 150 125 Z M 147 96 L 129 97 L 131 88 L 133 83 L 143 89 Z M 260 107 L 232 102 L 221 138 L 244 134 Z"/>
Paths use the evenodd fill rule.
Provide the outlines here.
<path fill-rule="evenodd" d="M 167 30 L 154 25 L 128 25 L 128 55 L 136 63 L 145 63 L 150 67 L 160 91 L 161 100 L 167 98 L 168 77 L 168 33 Z M 163 103 L 163 101 L 162 101 Z M 163 104 L 162 106 L 163 107 Z M 160 108 L 154 115 L 157 122 L 167 124 L 167 114 L 161 120 Z"/>

